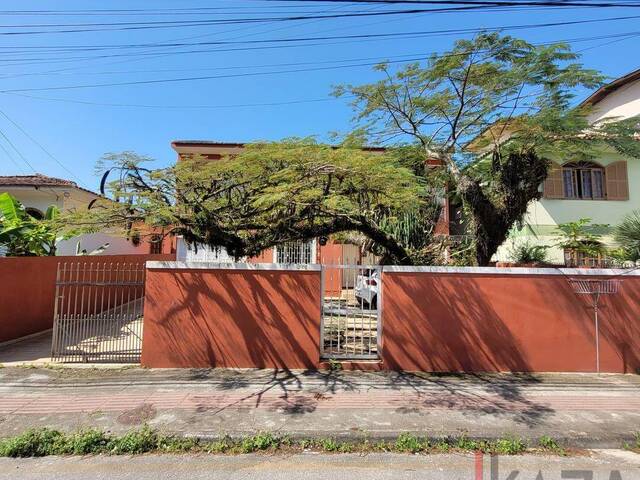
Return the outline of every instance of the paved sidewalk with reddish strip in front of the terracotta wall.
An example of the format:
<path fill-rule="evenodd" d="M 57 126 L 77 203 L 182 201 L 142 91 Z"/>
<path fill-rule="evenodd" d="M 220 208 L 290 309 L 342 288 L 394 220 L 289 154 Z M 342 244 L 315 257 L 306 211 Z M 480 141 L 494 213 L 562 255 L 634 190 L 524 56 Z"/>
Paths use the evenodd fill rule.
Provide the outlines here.
<path fill-rule="evenodd" d="M 618 448 L 640 431 L 635 375 L 429 375 L 267 370 L 0 369 L 0 435 L 32 426 L 212 437 L 531 440 Z"/>

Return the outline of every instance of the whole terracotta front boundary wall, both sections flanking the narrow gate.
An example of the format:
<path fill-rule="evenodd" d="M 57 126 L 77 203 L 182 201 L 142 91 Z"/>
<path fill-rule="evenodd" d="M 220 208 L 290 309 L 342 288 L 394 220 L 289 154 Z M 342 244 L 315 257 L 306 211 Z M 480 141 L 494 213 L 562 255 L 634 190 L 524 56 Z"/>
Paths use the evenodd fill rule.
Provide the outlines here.
<path fill-rule="evenodd" d="M 147 270 L 148 367 L 318 368 L 321 272 L 268 265 Z M 311 266 L 310 266 L 311 268 Z M 435 372 L 593 372 L 585 271 L 385 267 L 381 363 Z M 597 272 L 594 271 L 594 274 Z M 613 271 L 607 272 L 616 273 Z M 622 272 L 620 272 L 622 273 Z M 602 297 L 601 370 L 640 369 L 640 275 Z M 608 278 L 611 278 L 610 276 Z M 373 367 L 371 367 L 373 368 Z"/>

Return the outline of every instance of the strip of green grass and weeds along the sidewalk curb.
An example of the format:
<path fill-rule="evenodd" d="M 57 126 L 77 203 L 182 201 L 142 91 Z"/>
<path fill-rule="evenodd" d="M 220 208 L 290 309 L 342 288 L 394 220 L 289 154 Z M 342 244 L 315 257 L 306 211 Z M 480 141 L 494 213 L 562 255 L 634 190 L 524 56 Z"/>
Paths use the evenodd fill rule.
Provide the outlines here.
<path fill-rule="evenodd" d="M 640 446 L 640 436 L 637 445 Z M 27 430 L 15 437 L 0 440 L 0 456 L 43 457 L 47 455 L 139 455 L 143 453 L 211 453 L 243 454 L 253 452 L 295 453 L 301 451 L 324 453 L 396 452 L 411 454 L 483 452 L 498 455 L 518 455 L 544 451 L 564 455 L 565 451 L 550 437 L 541 437 L 530 447 L 515 437 L 497 440 L 475 440 L 466 436 L 429 439 L 402 434 L 395 441 L 341 441 L 334 438 L 292 440 L 269 432 L 238 439 L 223 437 L 204 441 L 165 435 L 144 426 L 116 436 L 97 429 L 64 433 L 50 428 Z"/>

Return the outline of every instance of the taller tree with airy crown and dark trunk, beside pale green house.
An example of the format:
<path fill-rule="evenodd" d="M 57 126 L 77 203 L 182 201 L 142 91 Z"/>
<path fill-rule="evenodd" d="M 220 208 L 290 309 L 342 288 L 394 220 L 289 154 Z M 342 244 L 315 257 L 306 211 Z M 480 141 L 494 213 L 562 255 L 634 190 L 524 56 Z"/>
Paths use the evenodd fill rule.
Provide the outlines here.
<path fill-rule="evenodd" d="M 637 121 L 593 127 L 588 108 L 572 107 L 576 89 L 603 81 L 577 58 L 565 44 L 480 34 L 424 63 L 380 64 L 381 80 L 335 94 L 353 98 L 356 136 L 417 143 L 424 161 L 443 162 L 486 265 L 540 197 L 550 158 L 583 159 L 604 146 L 640 156 Z"/>

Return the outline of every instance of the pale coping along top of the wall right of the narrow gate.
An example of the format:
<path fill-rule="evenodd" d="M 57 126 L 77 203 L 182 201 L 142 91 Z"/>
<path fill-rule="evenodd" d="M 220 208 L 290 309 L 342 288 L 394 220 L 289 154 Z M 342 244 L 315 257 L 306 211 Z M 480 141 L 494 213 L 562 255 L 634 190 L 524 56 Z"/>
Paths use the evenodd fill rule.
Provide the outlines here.
<path fill-rule="evenodd" d="M 427 267 L 386 265 L 386 273 L 471 273 L 485 275 L 564 275 L 589 277 L 636 277 L 640 268 L 532 268 L 532 267 Z"/>

